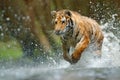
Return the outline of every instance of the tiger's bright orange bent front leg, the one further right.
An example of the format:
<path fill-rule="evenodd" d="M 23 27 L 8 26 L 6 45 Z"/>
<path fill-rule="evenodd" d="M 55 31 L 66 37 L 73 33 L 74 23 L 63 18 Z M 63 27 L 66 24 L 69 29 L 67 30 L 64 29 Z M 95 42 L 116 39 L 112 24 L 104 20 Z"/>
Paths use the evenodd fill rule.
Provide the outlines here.
<path fill-rule="evenodd" d="M 77 63 L 81 57 L 82 52 L 88 47 L 90 40 L 88 37 L 83 37 L 80 42 L 76 44 L 75 50 L 71 55 L 71 64 Z"/>

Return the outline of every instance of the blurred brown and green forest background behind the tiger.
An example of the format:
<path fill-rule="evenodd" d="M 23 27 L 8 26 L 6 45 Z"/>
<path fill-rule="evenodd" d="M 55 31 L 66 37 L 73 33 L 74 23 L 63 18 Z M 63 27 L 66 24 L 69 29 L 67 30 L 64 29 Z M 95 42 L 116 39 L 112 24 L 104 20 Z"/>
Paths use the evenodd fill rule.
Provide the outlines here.
<path fill-rule="evenodd" d="M 117 30 L 108 27 L 106 31 L 120 35 L 119 7 L 120 0 L 0 0 L 0 61 L 29 58 L 44 62 L 48 57 L 58 60 L 61 42 L 53 33 L 52 10 L 74 10 L 99 24 L 114 17 L 112 25 Z"/>

